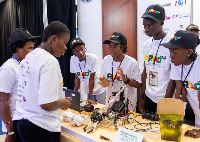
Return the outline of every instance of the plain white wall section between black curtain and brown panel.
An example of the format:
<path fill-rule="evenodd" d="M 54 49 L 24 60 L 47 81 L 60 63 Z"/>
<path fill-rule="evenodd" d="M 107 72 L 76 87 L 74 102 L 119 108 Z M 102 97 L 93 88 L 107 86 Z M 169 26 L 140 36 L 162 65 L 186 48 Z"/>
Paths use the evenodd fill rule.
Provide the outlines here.
<path fill-rule="evenodd" d="M 78 36 L 85 42 L 87 53 L 97 55 L 100 68 L 103 57 L 101 0 L 83 1 L 77 1 Z"/>

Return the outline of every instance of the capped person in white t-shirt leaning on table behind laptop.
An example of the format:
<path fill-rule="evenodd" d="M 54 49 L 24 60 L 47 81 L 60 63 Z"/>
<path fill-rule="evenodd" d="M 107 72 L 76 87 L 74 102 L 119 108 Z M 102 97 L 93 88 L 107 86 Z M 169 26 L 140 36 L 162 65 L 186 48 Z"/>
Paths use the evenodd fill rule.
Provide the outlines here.
<path fill-rule="evenodd" d="M 99 69 L 97 56 L 86 53 L 85 43 L 80 38 L 72 39 L 70 47 L 74 56 L 70 59 L 70 72 L 75 73 L 74 90 L 85 90 L 90 104 L 106 104 L 106 90 L 98 83 Z M 81 90 L 83 89 L 83 90 Z M 86 95 L 86 94 L 85 94 Z"/>

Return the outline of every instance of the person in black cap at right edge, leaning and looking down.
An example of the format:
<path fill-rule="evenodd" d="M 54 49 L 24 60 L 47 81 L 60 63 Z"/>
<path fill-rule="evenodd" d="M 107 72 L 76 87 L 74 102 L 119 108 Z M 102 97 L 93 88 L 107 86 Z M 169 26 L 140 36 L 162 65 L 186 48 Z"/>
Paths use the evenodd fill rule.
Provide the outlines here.
<path fill-rule="evenodd" d="M 170 79 L 182 81 L 187 90 L 187 99 L 195 113 L 195 126 L 200 127 L 200 56 L 195 53 L 199 37 L 190 31 L 177 31 L 174 38 L 163 46 L 169 48 L 171 66 Z"/>

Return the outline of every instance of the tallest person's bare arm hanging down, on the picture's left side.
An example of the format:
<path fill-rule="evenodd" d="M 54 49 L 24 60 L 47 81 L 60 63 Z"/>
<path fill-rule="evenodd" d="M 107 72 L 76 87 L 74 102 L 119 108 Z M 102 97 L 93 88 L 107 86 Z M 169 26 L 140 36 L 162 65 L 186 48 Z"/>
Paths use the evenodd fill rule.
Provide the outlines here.
<path fill-rule="evenodd" d="M 146 89 L 146 78 L 147 78 L 147 74 L 146 74 L 146 66 L 145 66 L 145 62 L 144 62 L 144 70 L 142 72 L 142 87 L 141 87 L 141 92 L 140 92 L 140 99 L 139 99 L 139 110 L 141 113 L 143 113 L 145 111 L 144 108 L 144 93 L 145 93 L 145 89 Z"/>

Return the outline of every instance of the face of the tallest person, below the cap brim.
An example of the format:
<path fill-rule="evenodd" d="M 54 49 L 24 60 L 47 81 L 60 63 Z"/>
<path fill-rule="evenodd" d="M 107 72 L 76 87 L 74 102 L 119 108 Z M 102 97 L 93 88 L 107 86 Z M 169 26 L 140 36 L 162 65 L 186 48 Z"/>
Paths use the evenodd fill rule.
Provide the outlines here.
<path fill-rule="evenodd" d="M 155 36 L 162 30 L 162 22 L 156 23 L 150 18 L 143 18 L 145 34 L 149 37 Z"/>

